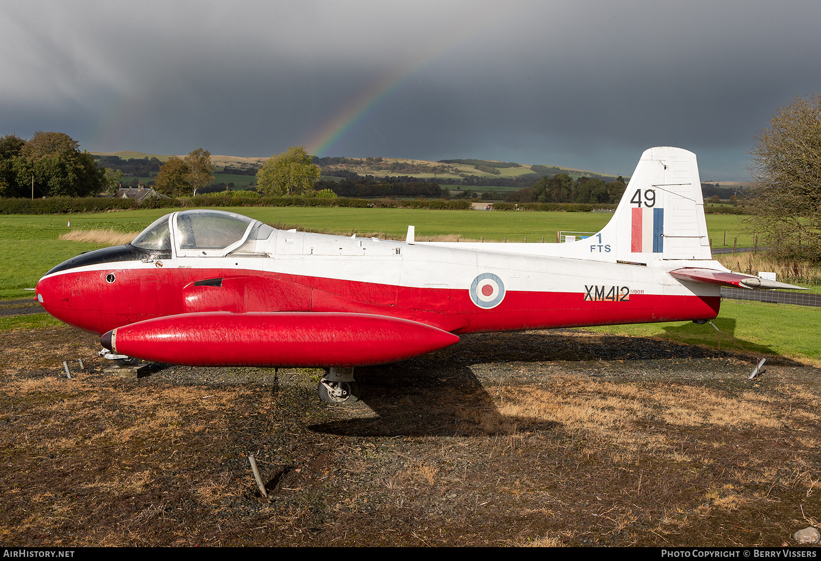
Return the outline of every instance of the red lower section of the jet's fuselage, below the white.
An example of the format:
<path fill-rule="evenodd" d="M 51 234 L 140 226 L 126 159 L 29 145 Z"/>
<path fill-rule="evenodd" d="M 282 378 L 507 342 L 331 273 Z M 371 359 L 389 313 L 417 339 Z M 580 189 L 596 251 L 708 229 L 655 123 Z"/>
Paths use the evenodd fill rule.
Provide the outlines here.
<path fill-rule="evenodd" d="M 117 277 L 108 283 L 113 271 Z M 222 278 L 220 286 L 194 285 Z M 601 283 L 600 283 L 601 284 Z M 601 285 L 601 294 L 613 287 Z M 616 287 L 618 288 L 618 287 Z M 590 294 L 598 294 L 599 290 Z M 507 290 L 495 308 L 479 308 L 467 289 L 380 285 L 250 270 L 166 268 L 72 271 L 40 280 L 44 308 L 98 333 L 152 317 L 187 312 L 355 312 L 401 317 L 456 333 L 712 319 L 719 296 Z M 64 295 L 57 298 L 57 294 Z M 626 295 L 626 298 L 623 297 Z"/>

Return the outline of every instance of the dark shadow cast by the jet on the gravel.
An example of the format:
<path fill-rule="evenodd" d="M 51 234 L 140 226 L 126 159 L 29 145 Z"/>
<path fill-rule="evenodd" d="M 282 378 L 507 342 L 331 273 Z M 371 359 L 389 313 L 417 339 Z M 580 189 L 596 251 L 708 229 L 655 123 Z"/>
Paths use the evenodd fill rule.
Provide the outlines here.
<path fill-rule="evenodd" d="M 705 328 L 709 328 L 718 335 L 709 324 L 693 327 L 696 333 L 704 333 Z M 735 320 L 722 320 L 719 327 L 731 335 L 735 331 Z M 683 328 L 692 329 L 690 325 L 669 329 Z M 750 346 L 760 349 L 760 346 Z M 378 417 L 324 422 L 310 429 L 345 436 L 479 436 L 554 430 L 560 428 L 561 423 L 502 414 L 488 388 L 505 382 L 488 379 L 483 385 L 470 366 L 723 356 L 735 355 L 692 344 L 620 335 L 579 336 L 575 331 L 566 330 L 466 335 L 458 344 L 424 357 L 357 368 L 356 377 L 363 385 L 362 401 Z M 779 363 L 785 361 L 801 366 L 787 358 L 778 359 Z M 753 363 L 754 358 L 751 357 L 750 362 Z M 511 364 L 511 371 L 514 369 Z M 355 408 L 351 413 L 355 414 Z"/>

